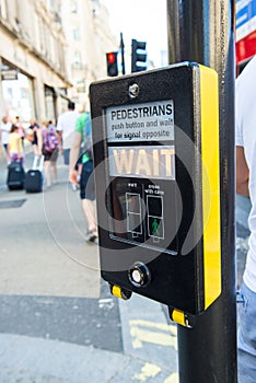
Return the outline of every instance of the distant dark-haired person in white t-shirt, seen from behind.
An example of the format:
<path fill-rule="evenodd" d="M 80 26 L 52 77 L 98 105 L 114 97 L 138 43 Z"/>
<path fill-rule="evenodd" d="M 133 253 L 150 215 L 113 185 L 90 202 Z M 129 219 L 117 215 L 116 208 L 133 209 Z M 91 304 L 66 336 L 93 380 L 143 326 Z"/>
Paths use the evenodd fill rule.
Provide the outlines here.
<path fill-rule="evenodd" d="M 58 120 L 56 130 L 59 135 L 59 150 L 63 153 L 63 162 L 69 164 L 70 149 L 73 143 L 74 128 L 80 114 L 75 112 L 75 104 L 71 101 L 68 103 L 68 111 L 62 113 Z"/>

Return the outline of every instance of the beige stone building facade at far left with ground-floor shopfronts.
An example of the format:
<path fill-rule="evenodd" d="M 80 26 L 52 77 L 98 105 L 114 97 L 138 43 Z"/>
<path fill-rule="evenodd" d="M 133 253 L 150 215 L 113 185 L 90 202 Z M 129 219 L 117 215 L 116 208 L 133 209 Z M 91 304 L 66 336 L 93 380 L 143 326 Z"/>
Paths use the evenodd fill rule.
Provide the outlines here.
<path fill-rule="evenodd" d="M 67 93 L 66 39 L 48 1 L 0 0 L 1 114 L 54 118 Z M 66 91 L 65 91 L 66 90 Z"/>

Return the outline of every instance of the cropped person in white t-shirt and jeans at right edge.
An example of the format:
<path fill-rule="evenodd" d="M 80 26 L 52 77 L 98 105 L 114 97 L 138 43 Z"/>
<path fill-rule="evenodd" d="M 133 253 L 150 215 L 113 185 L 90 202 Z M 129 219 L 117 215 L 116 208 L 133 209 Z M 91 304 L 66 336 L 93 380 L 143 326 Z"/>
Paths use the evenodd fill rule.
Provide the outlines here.
<path fill-rule="evenodd" d="M 236 193 L 249 196 L 248 253 L 238 303 L 238 382 L 256 382 L 256 56 L 235 83 Z"/>

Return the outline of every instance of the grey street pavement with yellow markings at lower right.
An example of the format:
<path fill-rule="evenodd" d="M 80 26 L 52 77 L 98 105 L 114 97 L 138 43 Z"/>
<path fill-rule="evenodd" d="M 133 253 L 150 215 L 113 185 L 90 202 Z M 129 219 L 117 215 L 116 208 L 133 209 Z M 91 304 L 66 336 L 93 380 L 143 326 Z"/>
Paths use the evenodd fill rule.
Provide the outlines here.
<path fill-rule="evenodd" d="M 58 171 L 42 194 L 10 193 L 0 158 L 0 383 L 177 383 L 176 325 L 156 302 L 109 294 L 61 159 Z M 241 276 L 249 204 L 240 206 Z"/>

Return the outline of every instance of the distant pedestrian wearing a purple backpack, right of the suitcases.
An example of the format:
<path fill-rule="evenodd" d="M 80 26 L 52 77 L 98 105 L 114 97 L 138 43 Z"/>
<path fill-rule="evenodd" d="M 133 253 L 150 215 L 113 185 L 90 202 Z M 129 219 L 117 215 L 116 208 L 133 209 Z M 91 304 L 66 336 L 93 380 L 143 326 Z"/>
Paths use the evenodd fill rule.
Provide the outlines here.
<path fill-rule="evenodd" d="M 53 172 L 54 183 L 56 184 L 58 181 L 57 174 L 57 159 L 58 159 L 58 144 L 59 140 L 57 134 L 53 127 L 50 127 L 49 123 L 43 120 L 40 124 L 42 134 L 43 134 L 43 154 L 45 156 L 44 167 L 45 167 L 45 179 L 46 187 L 50 187 L 51 177 L 50 171 Z"/>

